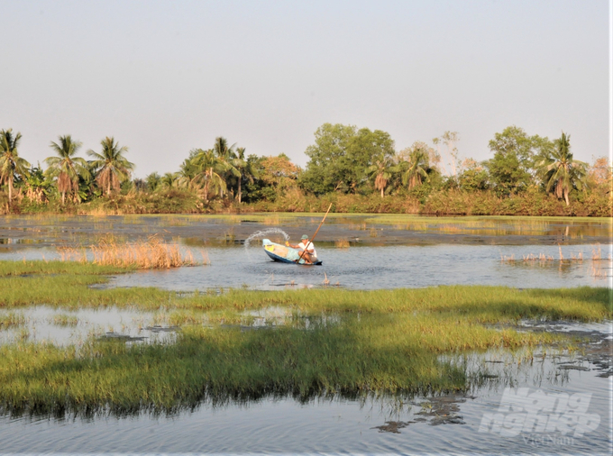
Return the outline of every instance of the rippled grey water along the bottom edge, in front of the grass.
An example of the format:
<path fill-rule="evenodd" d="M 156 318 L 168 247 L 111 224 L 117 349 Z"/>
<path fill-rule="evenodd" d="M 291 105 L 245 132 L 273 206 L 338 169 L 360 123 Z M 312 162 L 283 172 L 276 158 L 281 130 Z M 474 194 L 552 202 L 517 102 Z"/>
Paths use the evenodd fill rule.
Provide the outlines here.
<path fill-rule="evenodd" d="M 484 380 L 483 386 L 465 394 L 407 398 L 402 406 L 392 398 L 335 397 L 306 404 L 269 398 L 226 406 L 203 404 L 171 416 L 65 420 L 5 416 L 0 417 L 0 453 L 608 453 L 613 377 L 598 377 L 601 367 L 590 362 L 589 351 L 591 345 L 606 343 L 603 339 L 610 330 L 599 328 L 602 333 L 571 325 L 592 336 L 599 333 L 587 345 L 587 354 L 549 351 L 527 361 L 507 352 L 476 353 L 469 363 L 487 365 L 489 376 L 499 377 Z M 568 366 L 574 369 L 564 369 Z M 509 385 L 513 388 L 506 389 Z M 551 410 L 543 404 L 534 410 L 528 406 L 524 411 L 502 410 L 504 399 L 521 394 L 517 388 L 529 388 L 531 397 L 541 399 L 562 395 L 558 397 L 565 402 L 559 400 Z M 579 409 L 581 401 L 573 395 L 586 391 L 589 396 L 583 396 L 582 403 L 587 400 L 587 406 Z M 537 426 L 524 421 L 531 411 L 544 423 L 554 426 L 562 416 L 570 424 L 538 432 Z M 518 428 L 513 412 L 522 420 Z M 499 428 L 491 427 L 492 414 L 511 419 Z M 577 431 L 578 415 L 591 420 L 583 433 Z"/>

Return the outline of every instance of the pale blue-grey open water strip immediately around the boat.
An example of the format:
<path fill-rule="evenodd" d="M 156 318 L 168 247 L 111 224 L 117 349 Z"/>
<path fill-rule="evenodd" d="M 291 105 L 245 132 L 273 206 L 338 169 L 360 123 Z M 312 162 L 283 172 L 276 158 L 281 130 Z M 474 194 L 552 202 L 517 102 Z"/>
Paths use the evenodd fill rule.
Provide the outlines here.
<path fill-rule="evenodd" d="M 558 246 L 434 245 L 383 246 L 335 249 L 316 243 L 322 266 L 302 267 L 271 261 L 261 247 L 248 255 L 240 247 L 207 250 L 211 264 L 205 267 L 151 270 L 116 276 L 114 287 L 161 287 L 173 290 L 204 290 L 212 287 L 330 286 L 352 289 L 432 287 L 439 285 L 501 285 L 521 288 L 611 286 L 611 263 L 602 261 L 603 276 L 594 276 L 590 260 L 560 264 L 524 262 L 522 255 L 543 252 L 557 258 Z M 582 251 L 590 245 L 564 246 L 563 255 Z M 515 263 L 500 257 L 515 256 Z M 588 255 L 589 256 L 589 255 Z M 606 277 L 605 277 L 606 275 Z M 293 284 L 293 285 L 292 285 Z"/>

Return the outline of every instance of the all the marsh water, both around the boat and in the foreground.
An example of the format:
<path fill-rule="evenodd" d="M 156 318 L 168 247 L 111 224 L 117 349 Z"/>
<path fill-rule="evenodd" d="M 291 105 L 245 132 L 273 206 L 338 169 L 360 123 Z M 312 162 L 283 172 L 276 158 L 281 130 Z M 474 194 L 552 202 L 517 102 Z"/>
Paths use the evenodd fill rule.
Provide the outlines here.
<path fill-rule="evenodd" d="M 421 217 L 332 216 L 317 235 L 323 266 L 298 267 L 271 262 L 257 242 L 262 233 L 279 241 L 314 233 L 316 216 L 276 214 L 243 216 L 1 217 L 0 260 L 59 258 L 56 247 L 96 242 L 114 233 L 126 241 L 159 235 L 184 248 L 206 249 L 209 266 L 118 275 L 110 287 L 153 286 L 175 290 L 219 287 L 284 289 L 347 287 L 374 289 L 437 285 L 508 287 L 612 287 L 610 260 L 591 261 L 601 245 L 611 253 L 611 223 L 572 219 L 476 219 L 470 223 Z M 270 223 L 278 224 L 270 230 Z M 271 237 L 274 240 L 274 238 Z M 349 242 L 337 248 L 334 242 Z M 583 261 L 560 262 L 582 253 Z M 554 261 L 522 261 L 544 253 Z M 514 257 L 516 261 L 507 261 Z M 1 283 L 1 280 L 0 280 Z M 92 331 L 110 329 L 151 340 L 172 332 L 143 328 L 169 325 L 159 315 L 130 309 L 83 309 L 77 312 L 32 306 L 17 309 L 28 319 L 32 341 L 74 342 Z M 74 315 L 78 324 L 50 323 L 53 315 Z M 287 318 L 284 309 L 252 313 L 253 324 Z M 508 352 L 468 354 L 471 369 L 487 367 L 492 378 L 465 395 L 405 398 L 403 407 L 390 397 L 352 400 L 314 399 L 306 404 L 288 397 L 211 406 L 177 415 L 142 413 L 116 417 L 0 417 L 0 453 L 14 452 L 206 452 L 206 453 L 610 453 L 613 346 L 610 322 L 523 322 L 526 331 L 581 333 L 590 337 L 579 353 L 552 355 L 527 362 Z M 19 337 L 19 328 L 0 332 L 4 342 Z M 11 339 L 13 338 L 13 339 Z M 147 341 L 142 341 L 147 342 Z M 142 343 L 137 342 L 137 343 Z M 499 362 L 500 361 L 500 362 Z M 486 414 L 496 413 L 508 386 L 540 390 L 545 396 L 591 394 L 589 415 L 598 415 L 595 431 L 519 433 L 480 432 Z M 551 415 L 551 414 L 550 414 Z M 551 416 L 550 416 L 551 417 Z"/>

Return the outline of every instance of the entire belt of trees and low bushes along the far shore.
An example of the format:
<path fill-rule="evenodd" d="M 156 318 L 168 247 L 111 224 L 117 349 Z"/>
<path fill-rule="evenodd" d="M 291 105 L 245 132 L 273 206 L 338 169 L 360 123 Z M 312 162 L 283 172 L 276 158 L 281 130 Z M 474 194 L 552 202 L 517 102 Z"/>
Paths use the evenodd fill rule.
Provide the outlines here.
<path fill-rule="evenodd" d="M 395 150 L 389 133 L 325 123 L 300 169 L 285 154 L 247 155 L 215 139 L 188 152 L 177 172 L 133 178 L 128 148 L 113 137 L 93 160 L 69 135 L 51 142 L 48 169 L 17 151 L 21 133 L 0 131 L 0 213 L 77 214 L 317 211 L 611 216 L 611 166 L 574 160 L 570 135 L 550 141 L 513 125 L 489 141 L 492 156 L 460 160 L 457 132 Z"/>

